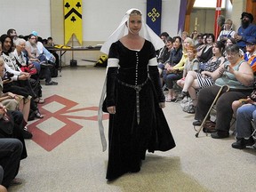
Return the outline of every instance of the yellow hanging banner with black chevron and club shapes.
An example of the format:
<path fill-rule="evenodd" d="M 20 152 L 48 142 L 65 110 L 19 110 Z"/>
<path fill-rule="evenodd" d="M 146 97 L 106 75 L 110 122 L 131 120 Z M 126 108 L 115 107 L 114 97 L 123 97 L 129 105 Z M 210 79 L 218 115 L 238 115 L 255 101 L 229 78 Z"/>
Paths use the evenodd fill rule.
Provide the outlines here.
<path fill-rule="evenodd" d="M 82 0 L 64 0 L 65 44 L 76 36 L 79 44 L 83 44 Z"/>

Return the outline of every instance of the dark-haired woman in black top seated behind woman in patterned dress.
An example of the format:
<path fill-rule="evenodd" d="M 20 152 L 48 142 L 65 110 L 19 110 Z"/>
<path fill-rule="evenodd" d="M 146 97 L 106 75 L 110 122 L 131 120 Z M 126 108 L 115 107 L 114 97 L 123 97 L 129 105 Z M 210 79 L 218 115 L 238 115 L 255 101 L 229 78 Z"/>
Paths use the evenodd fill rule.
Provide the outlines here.
<path fill-rule="evenodd" d="M 205 63 L 212 58 L 212 44 L 215 42 L 215 36 L 213 34 L 206 35 L 206 45 L 204 48 L 197 52 L 197 60 L 199 62 Z"/>

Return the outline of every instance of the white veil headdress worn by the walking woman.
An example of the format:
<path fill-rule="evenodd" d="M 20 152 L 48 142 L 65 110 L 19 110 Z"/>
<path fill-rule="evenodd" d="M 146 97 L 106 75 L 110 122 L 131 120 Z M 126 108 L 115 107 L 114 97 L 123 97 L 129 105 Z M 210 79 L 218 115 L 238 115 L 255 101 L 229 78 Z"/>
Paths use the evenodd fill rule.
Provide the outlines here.
<path fill-rule="evenodd" d="M 116 28 L 116 30 L 111 34 L 111 36 L 108 37 L 108 40 L 102 45 L 100 52 L 104 52 L 104 53 L 108 54 L 111 44 L 115 43 L 121 37 L 126 36 L 128 34 L 128 28 L 125 25 L 125 23 L 129 20 L 130 14 L 133 10 L 137 10 L 140 12 L 140 10 L 135 9 L 135 8 L 128 10 L 125 13 L 124 18 L 121 21 L 121 23 L 119 24 L 118 28 Z M 163 40 L 159 36 L 157 36 L 156 33 L 151 28 L 148 27 L 148 25 L 145 23 L 143 18 L 142 18 L 142 26 L 141 26 L 139 34 L 143 38 L 150 41 L 154 45 L 156 50 L 159 50 L 162 47 L 164 47 Z"/>

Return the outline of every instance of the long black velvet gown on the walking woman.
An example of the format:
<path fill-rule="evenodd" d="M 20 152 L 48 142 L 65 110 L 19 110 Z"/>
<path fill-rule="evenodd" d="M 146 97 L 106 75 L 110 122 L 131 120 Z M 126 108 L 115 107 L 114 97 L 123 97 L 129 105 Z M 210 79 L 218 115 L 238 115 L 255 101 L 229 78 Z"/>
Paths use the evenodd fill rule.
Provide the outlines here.
<path fill-rule="evenodd" d="M 116 106 L 116 114 L 109 116 L 108 180 L 126 172 L 140 172 L 146 150 L 166 151 L 175 147 L 159 108 L 164 93 L 157 65 L 148 66 L 149 60 L 155 57 L 155 48 L 147 40 L 140 51 L 129 50 L 120 41 L 110 47 L 108 60 L 118 59 L 119 67 L 110 65 L 107 75 L 107 106 Z M 136 95 L 131 85 L 140 84 L 141 90 Z"/>

